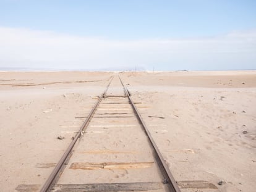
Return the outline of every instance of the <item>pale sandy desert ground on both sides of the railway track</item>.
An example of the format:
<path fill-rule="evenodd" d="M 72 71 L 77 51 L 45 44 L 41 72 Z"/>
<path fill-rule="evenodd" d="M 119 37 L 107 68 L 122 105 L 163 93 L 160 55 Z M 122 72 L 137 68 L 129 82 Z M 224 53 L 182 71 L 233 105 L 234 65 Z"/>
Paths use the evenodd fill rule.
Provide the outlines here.
<path fill-rule="evenodd" d="M 53 162 L 58 162 L 83 123 L 77 117 L 92 109 L 111 75 L 0 72 L 2 191 L 45 182 Z M 139 102 L 137 107 L 176 180 L 205 180 L 218 191 L 255 190 L 255 71 L 119 75 Z M 223 185 L 218 185 L 220 181 Z"/>

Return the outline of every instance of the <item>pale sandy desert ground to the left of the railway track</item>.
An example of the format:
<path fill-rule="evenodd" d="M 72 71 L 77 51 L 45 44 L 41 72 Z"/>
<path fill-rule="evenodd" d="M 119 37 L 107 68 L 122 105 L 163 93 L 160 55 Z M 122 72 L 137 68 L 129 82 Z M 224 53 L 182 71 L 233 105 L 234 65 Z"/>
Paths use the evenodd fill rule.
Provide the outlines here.
<path fill-rule="evenodd" d="M 0 185 L 42 185 L 61 158 L 111 74 L 87 72 L 0 73 Z M 90 81 L 76 83 L 49 82 Z M 3 83 L 4 82 L 4 83 Z M 33 86 L 12 86 L 21 83 Z M 58 140 L 64 136 L 64 140 Z M 48 168 L 41 168 L 42 166 Z"/>

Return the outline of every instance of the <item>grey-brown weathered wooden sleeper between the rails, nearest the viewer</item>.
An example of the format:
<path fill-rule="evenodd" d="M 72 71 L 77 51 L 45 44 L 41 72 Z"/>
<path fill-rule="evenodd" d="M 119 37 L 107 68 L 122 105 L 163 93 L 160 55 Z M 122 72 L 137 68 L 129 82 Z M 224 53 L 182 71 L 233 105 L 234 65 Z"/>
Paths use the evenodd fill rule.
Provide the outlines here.
<path fill-rule="evenodd" d="M 92 183 L 55 185 L 54 192 L 101 192 L 101 191 L 147 191 L 163 188 L 162 183 Z"/>

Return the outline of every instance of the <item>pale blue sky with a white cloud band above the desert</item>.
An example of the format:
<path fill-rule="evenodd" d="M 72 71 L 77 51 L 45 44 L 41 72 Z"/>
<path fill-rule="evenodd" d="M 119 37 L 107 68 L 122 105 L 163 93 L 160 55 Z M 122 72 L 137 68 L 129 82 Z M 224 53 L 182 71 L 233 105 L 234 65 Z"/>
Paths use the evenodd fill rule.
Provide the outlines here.
<path fill-rule="evenodd" d="M 256 69 L 256 1 L 0 0 L 0 70 Z"/>

